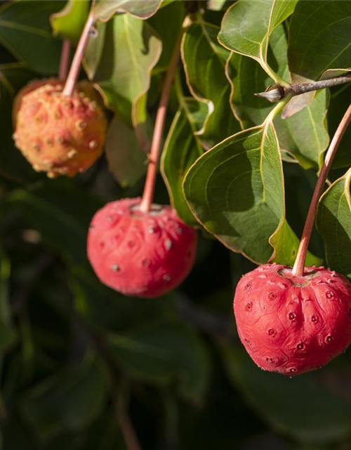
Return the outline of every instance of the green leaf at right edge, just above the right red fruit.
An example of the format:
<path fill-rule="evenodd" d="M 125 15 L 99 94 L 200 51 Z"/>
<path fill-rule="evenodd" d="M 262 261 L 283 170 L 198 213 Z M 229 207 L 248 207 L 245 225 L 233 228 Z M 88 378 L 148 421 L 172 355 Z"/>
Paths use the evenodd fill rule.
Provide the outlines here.
<path fill-rule="evenodd" d="M 319 200 L 317 229 L 326 249 L 326 262 L 351 277 L 351 169 L 333 182 Z"/>

